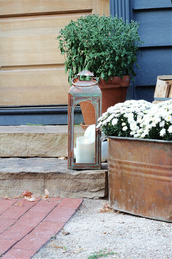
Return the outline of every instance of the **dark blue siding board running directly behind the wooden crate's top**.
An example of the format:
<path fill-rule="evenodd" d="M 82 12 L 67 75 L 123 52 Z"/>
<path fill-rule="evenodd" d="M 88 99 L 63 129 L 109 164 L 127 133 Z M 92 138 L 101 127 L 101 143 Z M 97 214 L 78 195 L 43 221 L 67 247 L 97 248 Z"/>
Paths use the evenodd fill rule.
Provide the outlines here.
<path fill-rule="evenodd" d="M 138 69 L 134 66 L 136 72 L 135 86 L 156 85 L 158 75 L 170 75 L 172 71 L 172 50 L 171 48 L 145 48 L 140 49 L 137 55 Z"/>

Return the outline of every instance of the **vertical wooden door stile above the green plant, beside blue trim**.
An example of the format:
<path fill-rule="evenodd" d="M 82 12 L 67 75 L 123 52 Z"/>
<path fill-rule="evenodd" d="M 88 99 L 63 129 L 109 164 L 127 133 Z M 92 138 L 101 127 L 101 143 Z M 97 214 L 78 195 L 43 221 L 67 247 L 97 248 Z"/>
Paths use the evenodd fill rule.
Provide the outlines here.
<path fill-rule="evenodd" d="M 109 0 L 93 0 L 93 11 L 92 14 L 99 14 L 99 16 L 110 15 L 110 4 Z"/>

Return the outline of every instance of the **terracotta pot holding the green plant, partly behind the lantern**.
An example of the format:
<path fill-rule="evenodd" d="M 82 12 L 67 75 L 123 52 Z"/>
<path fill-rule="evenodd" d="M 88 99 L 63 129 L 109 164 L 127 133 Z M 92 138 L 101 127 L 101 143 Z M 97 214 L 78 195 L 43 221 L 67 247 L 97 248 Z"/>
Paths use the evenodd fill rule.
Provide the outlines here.
<path fill-rule="evenodd" d="M 125 102 L 130 76 L 123 76 L 123 79 L 113 77 L 107 83 L 100 78 L 98 85 L 102 92 L 102 113 L 105 113 L 110 106 Z M 95 124 L 95 111 L 93 105 L 88 102 L 82 102 L 80 106 L 84 118 L 84 125 L 81 123 L 81 127 L 85 130 L 89 125 Z"/>

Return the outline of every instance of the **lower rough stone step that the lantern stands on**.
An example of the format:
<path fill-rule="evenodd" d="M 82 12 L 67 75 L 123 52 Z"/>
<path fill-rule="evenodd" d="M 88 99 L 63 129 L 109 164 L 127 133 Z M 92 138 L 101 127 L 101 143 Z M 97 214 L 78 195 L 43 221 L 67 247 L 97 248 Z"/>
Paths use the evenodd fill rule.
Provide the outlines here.
<path fill-rule="evenodd" d="M 0 158 L 0 196 L 23 191 L 69 198 L 102 198 L 108 195 L 107 164 L 101 170 L 69 170 L 58 158 Z"/>

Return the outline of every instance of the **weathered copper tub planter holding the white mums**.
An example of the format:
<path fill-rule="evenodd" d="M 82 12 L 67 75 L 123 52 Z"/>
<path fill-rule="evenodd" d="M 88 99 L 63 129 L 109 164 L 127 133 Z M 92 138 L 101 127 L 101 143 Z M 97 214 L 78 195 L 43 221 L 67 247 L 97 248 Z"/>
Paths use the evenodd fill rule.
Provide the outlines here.
<path fill-rule="evenodd" d="M 172 142 L 108 136 L 110 207 L 172 222 Z"/>

